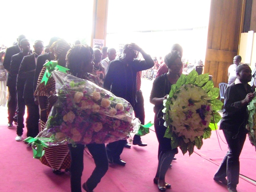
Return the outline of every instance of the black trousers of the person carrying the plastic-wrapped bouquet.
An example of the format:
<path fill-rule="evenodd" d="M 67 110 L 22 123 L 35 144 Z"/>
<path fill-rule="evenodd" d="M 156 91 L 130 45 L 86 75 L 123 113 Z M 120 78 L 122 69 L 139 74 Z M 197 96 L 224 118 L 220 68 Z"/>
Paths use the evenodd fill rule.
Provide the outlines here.
<path fill-rule="evenodd" d="M 86 181 L 89 190 L 92 191 L 108 171 L 109 162 L 105 144 L 86 144 L 86 146 L 93 156 L 96 165 L 91 176 Z M 71 155 L 71 192 L 81 192 L 81 177 L 84 170 L 84 149 L 84 144 L 77 144 L 76 147 L 69 144 Z"/>

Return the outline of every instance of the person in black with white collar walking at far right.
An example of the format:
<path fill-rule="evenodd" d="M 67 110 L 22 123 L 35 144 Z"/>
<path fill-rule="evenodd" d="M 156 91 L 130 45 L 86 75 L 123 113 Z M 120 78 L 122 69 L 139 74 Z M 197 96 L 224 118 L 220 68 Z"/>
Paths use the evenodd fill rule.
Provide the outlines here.
<path fill-rule="evenodd" d="M 254 93 L 248 82 L 252 79 L 251 68 L 238 65 L 237 79 L 225 91 L 225 104 L 220 129 L 223 131 L 229 146 L 229 151 L 223 158 L 214 180 L 227 185 L 229 192 L 237 192 L 239 181 L 239 156 L 246 139 L 247 105 L 253 99 Z M 228 177 L 228 180 L 226 179 Z"/>

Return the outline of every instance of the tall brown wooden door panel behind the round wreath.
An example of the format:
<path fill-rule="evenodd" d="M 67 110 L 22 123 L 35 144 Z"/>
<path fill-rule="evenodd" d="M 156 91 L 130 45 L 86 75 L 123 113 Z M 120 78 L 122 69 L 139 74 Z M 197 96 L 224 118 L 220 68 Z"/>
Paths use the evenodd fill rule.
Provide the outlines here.
<path fill-rule="evenodd" d="M 213 76 L 215 87 L 228 82 L 228 68 L 238 52 L 244 1 L 211 1 L 204 73 Z"/>

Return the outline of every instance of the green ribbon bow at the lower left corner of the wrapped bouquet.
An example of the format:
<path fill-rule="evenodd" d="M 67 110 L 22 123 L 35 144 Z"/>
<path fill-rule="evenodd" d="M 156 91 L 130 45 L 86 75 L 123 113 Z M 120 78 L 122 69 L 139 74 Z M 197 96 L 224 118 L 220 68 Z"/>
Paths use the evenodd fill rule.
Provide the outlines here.
<path fill-rule="evenodd" d="M 33 138 L 33 137 L 28 137 L 24 139 L 24 142 L 27 142 L 28 144 L 32 144 L 33 157 L 36 159 L 40 159 L 42 156 L 44 156 L 45 150 L 43 150 L 43 147 L 48 147 L 48 145 L 45 142 L 40 141 L 39 139 Z M 37 149 L 35 149 L 35 145 Z"/>

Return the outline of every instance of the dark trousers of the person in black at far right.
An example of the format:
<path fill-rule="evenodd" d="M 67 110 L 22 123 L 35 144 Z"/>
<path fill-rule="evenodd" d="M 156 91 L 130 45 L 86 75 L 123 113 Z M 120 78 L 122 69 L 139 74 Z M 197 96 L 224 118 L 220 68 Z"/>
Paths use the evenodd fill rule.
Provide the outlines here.
<path fill-rule="evenodd" d="M 240 162 L 239 156 L 244 146 L 246 139 L 246 131 L 232 132 L 223 129 L 224 136 L 229 146 L 229 151 L 223 158 L 214 177 L 224 178 L 228 177 L 228 187 L 236 187 L 239 181 Z"/>

